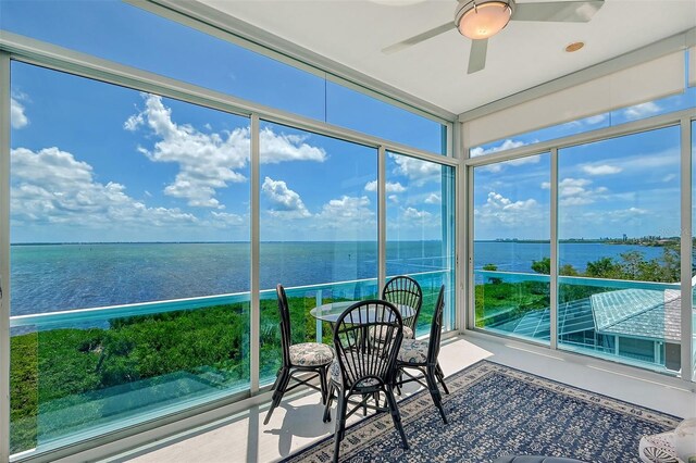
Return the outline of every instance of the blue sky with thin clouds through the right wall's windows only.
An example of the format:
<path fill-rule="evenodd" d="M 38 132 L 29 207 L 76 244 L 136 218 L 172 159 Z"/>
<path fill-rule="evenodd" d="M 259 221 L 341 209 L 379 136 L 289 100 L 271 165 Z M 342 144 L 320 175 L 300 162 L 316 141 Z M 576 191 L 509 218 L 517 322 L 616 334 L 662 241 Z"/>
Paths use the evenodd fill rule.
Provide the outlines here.
<path fill-rule="evenodd" d="M 486 155 L 696 105 L 696 88 L 474 148 Z M 680 235 L 680 134 L 668 127 L 559 150 L 559 238 Z M 474 174 L 474 239 L 548 239 L 550 155 Z"/>

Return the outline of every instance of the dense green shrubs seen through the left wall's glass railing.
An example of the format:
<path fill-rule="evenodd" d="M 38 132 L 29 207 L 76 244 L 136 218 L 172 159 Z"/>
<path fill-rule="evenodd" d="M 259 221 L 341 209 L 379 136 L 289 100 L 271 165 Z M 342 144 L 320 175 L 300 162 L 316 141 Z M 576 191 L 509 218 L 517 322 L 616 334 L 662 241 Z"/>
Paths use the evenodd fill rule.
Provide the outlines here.
<path fill-rule="evenodd" d="M 421 327 L 430 326 L 437 288 L 423 288 Z M 365 297 L 365 299 L 372 299 Z M 324 299 L 324 303 L 333 302 Z M 293 342 L 314 341 L 316 321 L 310 297 L 289 297 Z M 271 380 L 281 363 L 279 315 L 275 298 L 261 300 L 261 379 Z M 322 326 L 332 343 L 331 325 Z M 103 326 L 55 328 L 11 338 L 11 452 L 37 446 L 44 433 L 66 434 L 94 426 L 113 411 L 101 410 L 110 393 L 153 389 L 173 378 L 195 376 L 215 389 L 249 381 L 249 304 L 235 303 L 152 315 L 113 318 Z M 167 376 L 169 375 L 169 376 Z M 125 388 L 125 389 L 124 389 Z M 170 390 L 171 392 L 171 390 Z M 176 391 L 185 398 L 188 390 Z M 121 395 L 125 397 L 126 395 Z M 123 400 L 126 400 L 125 398 Z M 120 402 L 124 410 L 137 404 Z M 72 422 L 47 423 L 46 413 L 87 406 Z M 83 409 L 80 409 L 83 410 Z M 41 435 L 39 435 L 39 429 Z"/>

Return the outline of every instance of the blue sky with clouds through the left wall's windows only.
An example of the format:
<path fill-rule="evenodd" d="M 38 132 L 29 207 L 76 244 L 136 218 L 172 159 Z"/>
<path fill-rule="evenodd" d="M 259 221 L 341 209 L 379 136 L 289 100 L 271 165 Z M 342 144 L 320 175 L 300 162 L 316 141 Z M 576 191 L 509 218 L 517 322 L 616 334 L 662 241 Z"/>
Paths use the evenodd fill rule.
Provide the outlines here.
<path fill-rule="evenodd" d="M 437 123 L 121 2 L 3 1 L 2 17 L 17 34 L 440 151 Z M 11 146 L 13 242 L 249 239 L 246 117 L 13 63 Z M 263 123 L 261 238 L 376 240 L 376 167 L 375 149 Z M 442 168 L 390 154 L 388 170 L 395 235 L 438 239 Z"/>

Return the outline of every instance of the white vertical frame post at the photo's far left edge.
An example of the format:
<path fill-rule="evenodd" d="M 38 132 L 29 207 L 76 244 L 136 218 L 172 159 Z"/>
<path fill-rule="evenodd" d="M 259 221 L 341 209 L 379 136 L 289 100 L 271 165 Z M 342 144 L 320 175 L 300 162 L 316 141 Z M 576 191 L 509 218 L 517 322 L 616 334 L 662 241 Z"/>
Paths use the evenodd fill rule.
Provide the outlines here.
<path fill-rule="evenodd" d="M 10 54 L 0 52 L 0 461 L 10 460 Z"/>

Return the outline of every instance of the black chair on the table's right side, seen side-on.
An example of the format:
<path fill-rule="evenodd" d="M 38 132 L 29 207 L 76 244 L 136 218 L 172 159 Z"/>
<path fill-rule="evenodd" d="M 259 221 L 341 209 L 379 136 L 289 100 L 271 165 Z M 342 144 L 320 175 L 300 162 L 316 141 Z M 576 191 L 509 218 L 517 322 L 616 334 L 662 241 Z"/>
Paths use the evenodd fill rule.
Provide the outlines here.
<path fill-rule="evenodd" d="M 443 397 L 437 387 L 437 381 L 439 380 L 445 391 L 449 393 L 445 386 L 445 376 L 437 362 L 439 340 L 443 333 L 445 285 L 439 288 L 439 296 L 435 303 L 435 313 L 433 313 L 433 323 L 431 325 L 431 337 L 428 339 L 403 339 L 401 342 L 396 362 L 398 377 L 396 386 L 400 387 L 407 383 L 417 381 L 421 386 L 426 387 L 433 398 L 435 406 L 437 406 L 439 414 L 443 416 L 443 421 L 447 424 L 447 415 L 443 408 Z M 418 370 L 421 375 L 413 376 L 408 373 L 407 370 Z M 403 379 L 403 375 L 407 376 L 406 379 Z M 425 379 L 425 384 L 423 384 L 423 379 Z"/>

